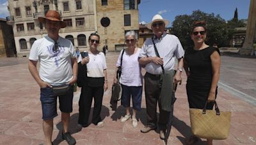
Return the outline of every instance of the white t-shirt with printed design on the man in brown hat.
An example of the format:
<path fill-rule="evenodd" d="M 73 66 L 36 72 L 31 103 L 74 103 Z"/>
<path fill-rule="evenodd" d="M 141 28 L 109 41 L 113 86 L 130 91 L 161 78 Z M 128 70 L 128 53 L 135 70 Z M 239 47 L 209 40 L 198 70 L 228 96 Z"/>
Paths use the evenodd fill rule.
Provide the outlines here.
<path fill-rule="evenodd" d="M 45 36 L 31 47 L 29 60 L 40 61 L 40 78 L 51 85 L 63 85 L 73 78 L 72 59 L 76 51 L 71 41 L 58 38 L 58 51 L 53 52 L 54 40 Z"/>

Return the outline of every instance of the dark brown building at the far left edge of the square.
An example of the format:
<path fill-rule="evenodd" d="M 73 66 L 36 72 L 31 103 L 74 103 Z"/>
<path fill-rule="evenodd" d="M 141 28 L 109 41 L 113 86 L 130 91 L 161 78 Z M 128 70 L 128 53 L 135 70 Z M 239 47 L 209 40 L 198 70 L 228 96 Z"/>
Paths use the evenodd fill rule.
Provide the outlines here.
<path fill-rule="evenodd" d="M 13 57 L 15 53 L 12 26 L 6 24 L 6 19 L 0 18 L 0 57 Z"/>

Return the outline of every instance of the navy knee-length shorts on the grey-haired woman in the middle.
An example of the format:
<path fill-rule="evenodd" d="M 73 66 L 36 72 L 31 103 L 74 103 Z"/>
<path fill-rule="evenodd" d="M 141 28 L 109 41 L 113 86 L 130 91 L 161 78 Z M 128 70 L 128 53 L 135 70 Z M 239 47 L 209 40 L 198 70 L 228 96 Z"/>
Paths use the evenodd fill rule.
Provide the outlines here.
<path fill-rule="evenodd" d="M 131 96 L 132 96 L 132 108 L 137 111 L 140 111 L 141 110 L 142 86 L 122 85 L 122 97 L 121 97 L 122 106 L 130 107 Z"/>

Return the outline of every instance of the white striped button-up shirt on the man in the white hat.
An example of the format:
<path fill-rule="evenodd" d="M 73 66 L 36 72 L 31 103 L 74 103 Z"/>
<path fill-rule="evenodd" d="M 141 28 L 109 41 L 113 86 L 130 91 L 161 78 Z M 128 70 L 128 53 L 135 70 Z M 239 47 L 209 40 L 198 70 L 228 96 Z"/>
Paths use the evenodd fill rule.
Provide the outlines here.
<path fill-rule="evenodd" d="M 160 39 L 154 37 L 154 43 L 156 44 L 159 56 L 163 58 L 163 66 L 166 71 L 174 69 L 175 57 L 177 59 L 184 57 L 184 50 L 180 44 L 179 38 L 174 35 L 166 34 L 166 32 L 164 32 Z M 141 48 L 139 58 L 142 57 L 156 57 L 154 44 L 151 38 L 148 38 Z M 145 69 L 150 74 L 162 73 L 161 66 L 154 62 L 148 63 L 145 66 Z"/>

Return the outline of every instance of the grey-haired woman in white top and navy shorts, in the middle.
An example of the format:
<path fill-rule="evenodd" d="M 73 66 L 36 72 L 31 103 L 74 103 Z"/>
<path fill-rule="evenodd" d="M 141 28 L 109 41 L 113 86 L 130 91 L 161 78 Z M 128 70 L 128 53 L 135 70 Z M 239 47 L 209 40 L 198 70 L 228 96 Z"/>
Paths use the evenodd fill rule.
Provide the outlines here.
<path fill-rule="evenodd" d="M 116 62 L 116 70 L 118 67 L 122 67 L 122 74 L 120 76 L 120 83 L 122 85 L 121 104 L 125 107 L 126 111 L 126 114 L 122 117 L 121 121 L 125 122 L 131 118 L 130 99 L 132 97 L 132 127 L 134 128 L 138 126 L 136 111 L 141 110 L 143 80 L 141 75 L 141 66 L 138 62 L 140 48 L 136 47 L 136 41 L 136 33 L 134 31 L 129 31 L 125 34 L 125 43 L 127 48 L 120 52 Z M 123 51 L 125 52 L 123 53 Z M 117 81 L 116 77 L 114 77 L 114 83 Z"/>

